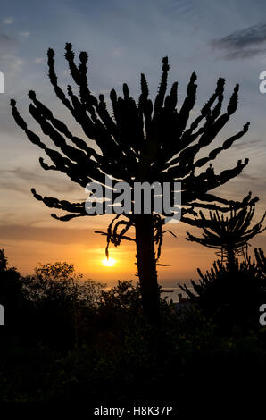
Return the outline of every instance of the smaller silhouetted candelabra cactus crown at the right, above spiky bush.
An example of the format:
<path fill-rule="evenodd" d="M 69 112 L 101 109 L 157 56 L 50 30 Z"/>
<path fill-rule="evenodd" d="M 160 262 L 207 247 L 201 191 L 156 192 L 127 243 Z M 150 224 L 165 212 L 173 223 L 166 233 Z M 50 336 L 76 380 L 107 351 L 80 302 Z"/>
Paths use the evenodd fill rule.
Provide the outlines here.
<path fill-rule="evenodd" d="M 210 219 L 207 219 L 203 212 L 199 212 L 200 217 L 195 220 L 204 225 L 203 236 L 195 237 L 187 231 L 187 240 L 197 242 L 204 247 L 219 249 L 217 253 L 221 261 L 225 257 L 230 266 L 235 263 L 237 255 L 244 254 L 248 241 L 253 239 L 258 233 L 262 233 L 266 228 L 262 228 L 266 213 L 262 219 L 251 227 L 254 218 L 255 203 L 257 197 L 251 199 L 251 193 L 243 200 L 243 208 L 232 207 L 229 215 L 210 212 Z M 207 227 L 206 227 L 207 226 Z"/>

